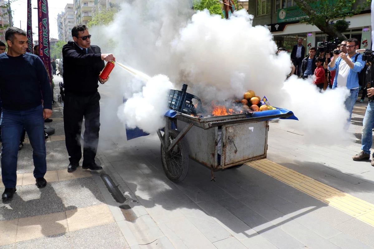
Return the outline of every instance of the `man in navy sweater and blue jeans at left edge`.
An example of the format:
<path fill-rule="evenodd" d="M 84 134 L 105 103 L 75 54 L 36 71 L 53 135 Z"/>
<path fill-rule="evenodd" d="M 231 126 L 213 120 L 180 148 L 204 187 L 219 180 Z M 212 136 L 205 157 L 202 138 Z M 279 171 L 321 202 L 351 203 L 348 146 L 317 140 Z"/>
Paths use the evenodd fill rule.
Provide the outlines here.
<path fill-rule="evenodd" d="M 1 176 L 5 186 L 3 200 L 16 192 L 17 154 L 23 129 L 33 147 L 34 177 L 38 188 L 45 187 L 47 170 L 44 119 L 52 114 L 52 92 L 42 60 L 26 53 L 26 32 L 10 27 L 5 32 L 8 51 L 0 55 Z"/>

